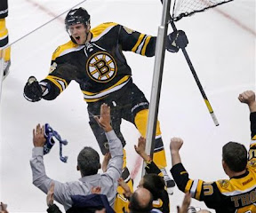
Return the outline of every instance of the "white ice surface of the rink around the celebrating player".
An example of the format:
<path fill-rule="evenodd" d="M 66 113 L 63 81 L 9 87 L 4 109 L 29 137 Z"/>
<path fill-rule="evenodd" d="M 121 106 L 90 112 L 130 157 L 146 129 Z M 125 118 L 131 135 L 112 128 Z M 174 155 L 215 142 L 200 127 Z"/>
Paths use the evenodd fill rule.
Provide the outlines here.
<path fill-rule="evenodd" d="M 86 103 L 78 84 L 71 83 L 53 101 L 31 103 L 23 98 L 28 77 L 35 75 L 38 80 L 43 79 L 48 74 L 52 52 L 68 41 L 64 26 L 66 13 L 28 33 L 80 2 L 9 1 L 6 23 L 13 45 L 10 75 L 4 80 L 1 97 L 0 201 L 7 203 L 12 213 L 46 212 L 47 209 L 46 195 L 32 185 L 29 165 L 32 130 L 37 123 L 50 123 L 62 138 L 68 139 L 68 146 L 63 147 L 68 163 L 60 162 L 59 145 L 44 157 L 46 172 L 53 179 L 66 182 L 80 177 L 76 156 L 83 146 L 100 151 L 88 124 Z M 159 0 L 87 0 L 79 6 L 91 14 L 92 28 L 113 21 L 156 36 L 161 23 Z M 221 167 L 221 147 L 230 140 L 246 147 L 250 143 L 249 110 L 237 97 L 240 92 L 255 91 L 255 1 L 235 0 L 184 18 L 176 27 L 188 36 L 188 55 L 220 126 L 212 122 L 182 52 L 166 52 L 158 118 L 168 170 L 172 166 L 170 139 L 180 137 L 184 139 L 180 152 L 182 162 L 191 178 L 205 181 L 228 178 Z M 25 37 L 20 39 L 22 36 Z M 132 67 L 134 83 L 149 100 L 155 59 L 133 52 L 124 54 Z M 133 145 L 137 144 L 140 134 L 125 121 L 122 130 L 127 141 L 128 167 L 134 171 L 138 156 Z M 140 172 L 135 176 L 135 187 L 139 179 Z M 176 212 L 183 196 L 175 187 L 170 197 L 172 212 Z M 203 202 L 196 200 L 191 205 L 205 208 Z"/>

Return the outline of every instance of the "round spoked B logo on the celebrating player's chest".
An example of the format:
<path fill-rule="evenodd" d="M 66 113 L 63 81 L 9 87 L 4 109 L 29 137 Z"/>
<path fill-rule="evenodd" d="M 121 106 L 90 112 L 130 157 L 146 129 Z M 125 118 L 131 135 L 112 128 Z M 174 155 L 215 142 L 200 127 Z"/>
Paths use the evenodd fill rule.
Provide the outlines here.
<path fill-rule="evenodd" d="M 93 81 L 107 83 L 116 75 L 116 61 L 108 52 L 98 51 L 88 59 L 86 70 Z"/>

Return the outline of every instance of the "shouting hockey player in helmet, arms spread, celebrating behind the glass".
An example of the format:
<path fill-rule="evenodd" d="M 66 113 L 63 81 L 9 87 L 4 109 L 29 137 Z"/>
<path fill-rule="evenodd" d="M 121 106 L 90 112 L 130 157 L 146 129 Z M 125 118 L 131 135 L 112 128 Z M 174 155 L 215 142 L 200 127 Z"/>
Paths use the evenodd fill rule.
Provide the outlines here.
<path fill-rule="evenodd" d="M 102 154 L 108 153 L 108 140 L 93 118 L 95 114 L 100 114 L 102 103 L 111 106 L 113 129 L 123 146 L 125 140 L 120 131 L 122 119 L 132 122 L 145 137 L 148 100 L 132 83 L 132 70 L 122 51 L 152 57 L 155 55 L 156 36 L 144 35 L 113 22 L 100 24 L 91 30 L 90 15 L 81 7 L 68 12 L 65 24 L 71 40 L 54 51 L 50 73 L 45 79 L 38 83 L 35 77 L 29 77 L 24 97 L 32 102 L 52 100 L 75 80 L 88 104 L 89 123 Z M 166 49 L 177 52 L 179 43 L 188 43 L 185 33 L 180 30 L 168 36 Z M 164 170 L 166 161 L 159 123 L 154 152 L 154 162 L 164 172 L 167 185 L 174 186 Z M 124 180 L 127 177 L 129 171 L 124 162 Z"/>

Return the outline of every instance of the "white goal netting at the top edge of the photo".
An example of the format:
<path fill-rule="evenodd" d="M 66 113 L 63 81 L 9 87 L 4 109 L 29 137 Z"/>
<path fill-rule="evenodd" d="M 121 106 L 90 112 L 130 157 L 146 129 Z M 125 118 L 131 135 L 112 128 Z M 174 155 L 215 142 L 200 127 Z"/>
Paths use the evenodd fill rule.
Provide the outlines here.
<path fill-rule="evenodd" d="M 196 12 L 204 12 L 207 9 L 231 1 L 233 0 L 174 0 L 172 19 L 177 21 Z"/>

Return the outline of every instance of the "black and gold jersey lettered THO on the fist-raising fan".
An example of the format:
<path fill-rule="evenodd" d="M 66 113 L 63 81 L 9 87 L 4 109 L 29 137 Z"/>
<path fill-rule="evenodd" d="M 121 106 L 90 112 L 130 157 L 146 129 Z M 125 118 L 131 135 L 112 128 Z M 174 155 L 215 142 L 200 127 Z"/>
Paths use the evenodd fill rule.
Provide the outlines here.
<path fill-rule="evenodd" d="M 250 114 L 252 142 L 249 149 L 247 171 L 239 177 L 204 182 L 190 179 L 181 163 L 172 167 L 172 177 L 179 189 L 191 193 L 193 198 L 204 201 L 216 212 L 256 212 L 256 113 Z"/>

